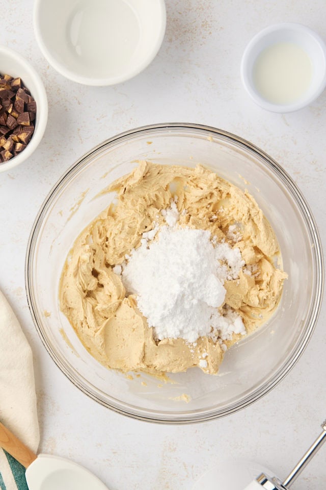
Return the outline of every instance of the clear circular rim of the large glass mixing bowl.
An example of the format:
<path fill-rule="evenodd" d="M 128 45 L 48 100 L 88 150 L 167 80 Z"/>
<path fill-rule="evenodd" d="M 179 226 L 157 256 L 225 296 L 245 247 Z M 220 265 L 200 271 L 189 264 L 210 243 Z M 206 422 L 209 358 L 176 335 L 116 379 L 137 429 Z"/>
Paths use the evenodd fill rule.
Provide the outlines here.
<path fill-rule="evenodd" d="M 178 414 L 177 418 L 173 418 L 174 415 L 171 413 L 169 416 L 166 414 L 159 415 L 159 412 L 146 411 L 144 409 L 137 409 L 137 407 L 130 406 L 126 403 L 120 402 L 116 403 L 114 400 L 108 401 L 103 397 L 102 392 L 91 386 L 90 383 L 80 376 L 76 376 L 73 370 L 71 370 L 70 366 L 65 362 L 65 359 L 62 358 L 58 353 L 53 349 L 53 346 L 48 341 L 41 324 L 38 321 L 37 311 L 34 307 L 34 293 L 33 293 L 33 278 L 31 273 L 31 264 L 34 257 L 35 244 L 38 236 L 38 231 L 41 227 L 42 220 L 44 215 L 46 214 L 49 206 L 53 199 L 55 199 L 57 193 L 61 190 L 64 184 L 67 183 L 67 180 L 71 178 L 80 168 L 82 168 L 85 164 L 88 163 L 89 158 L 93 155 L 96 155 L 97 152 L 101 151 L 103 148 L 107 148 L 110 146 L 114 146 L 116 143 L 121 140 L 127 140 L 129 137 L 137 136 L 137 135 L 150 135 L 153 132 L 158 132 L 164 134 L 166 132 L 178 132 L 178 131 L 196 131 L 202 133 L 207 137 L 207 135 L 213 135 L 215 137 L 220 137 L 223 140 L 228 140 L 232 143 L 235 143 L 240 148 L 244 148 L 249 150 L 254 155 L 259 156 L 264 160 L 266 167 L 273 171 L 274 175 L 277 176 L 281 182 L 286 186 L 287 190 L 292 195 L 292 198 L 295 200 L 298 208 L 300 209 L 302 216 L 305 220 L 305 224 L 307 226 L 307 231 L 310 234 L 310 238 L 312 240 L 312 249 L 314 252 L 314 261 L 316 267 L 316 284 L 315 284 L 315 296 L 310 308 L 309 317 L 306 322 L 305 334 L 302 337 L 302 341 L 297 345 L 296 349 L 292 352 L 291 356 L 282 364 L 280 369 L 274 374 L 272 378 L 262 386 L 258 387 L 251 393 L 250 395 L 244 397 L 240 402 L 236 402 L 231 404 L 228 407 L 223 409 L 209 410 L 204 413 L 191 413 L 188 412 L 186 414 Z M 101 405 L 110 408 L 111 410 L 129 416 L 130 418 L 134 418 L 137 420 L 143 420 L 147 422 L 160 423 L 160 424 L 193 424 L 206 422 L 209 420 L 214 420 L 221 418 L 226 415 L 230 415 L 248 405 L 251 405 L 255 401 L 259 400 L 261 397 L 266 395 L 272 388 L 274 388 L 292 369 L 297 360 L 301 357 L 304 350 L 307 347 L 307 344 L 311 338 L 311 335 L 314 331 L 316 322 L 318 320 L 322 296 L 323 296 L 323 285 L 324 285 L 324 266 L 323 266 L 323 253 L 321 247 L 321 240 L 319 236 L 319 232 L 315 223 L 315 219 L 311 213 L 308 203 L 301 193 L 300 189 L 294 183 L 292 178 L 286 173 L 286 171 L 279 165 L 273 158 L 267 155 L 264 151 L 258 148 L 256 145 L 251 142 L 229 133 L 227 131 L 214 128 L 211 126 L 192 124 L 192 123 L 180 123 L 180 122 L 170 122 L 170 123 L 160 123 L 142 126 L 139 128 L 135 128 L 129 131 L 125 131 L 123 133 L 119 133 L 112 138 L 108 138 L 98 145 L 94 146 L 89 152 L 80 157 L 75 163 L 73 163 L 66 172 L 62 175 L 62 177 L 57 181 L 57 183 L 52 187 L 47 197 L 45 198 L 32 227 L 31 234 L 28 241 L 28 246 L 26 249 L 26 257 L 25 257 L 25 287 L 26 287 L 26 296 L 28 299 L 29 309 L 36 326 L 37 332 L 44 344 L 44 347 L 48 351 L 51 358 L 55 361 L 59 369 L 66 375 L 66 377 L 80 390 L 83 391 L 86 395 L 88 395 L 93 400 L 97 401 Z"/>

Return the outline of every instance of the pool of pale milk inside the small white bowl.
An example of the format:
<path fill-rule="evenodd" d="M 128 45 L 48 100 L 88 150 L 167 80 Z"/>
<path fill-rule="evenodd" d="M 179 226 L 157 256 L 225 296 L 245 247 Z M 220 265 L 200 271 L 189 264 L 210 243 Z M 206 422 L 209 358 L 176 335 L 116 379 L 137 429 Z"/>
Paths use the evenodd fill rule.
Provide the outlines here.
<path fill-rule="evenodd" d="M 260 95 L 273 104 L 290 104 L 301 99 L 312 81 L 308 54 L 294 42 L 266 47 L 253 67 L 253 82 Z"/>

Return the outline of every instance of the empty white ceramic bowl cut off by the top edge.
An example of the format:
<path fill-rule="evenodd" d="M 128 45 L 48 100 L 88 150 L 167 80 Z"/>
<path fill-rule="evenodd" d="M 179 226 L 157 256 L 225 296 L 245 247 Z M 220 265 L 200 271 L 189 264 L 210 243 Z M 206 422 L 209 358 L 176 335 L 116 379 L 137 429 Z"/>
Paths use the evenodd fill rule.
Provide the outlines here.
<path fill-rule="evenodd" d="M 166 28 L 164 0 L 36 0 L 34 31 L 48 62 L 85 85 L 114 85 L 145 69 Z"/>

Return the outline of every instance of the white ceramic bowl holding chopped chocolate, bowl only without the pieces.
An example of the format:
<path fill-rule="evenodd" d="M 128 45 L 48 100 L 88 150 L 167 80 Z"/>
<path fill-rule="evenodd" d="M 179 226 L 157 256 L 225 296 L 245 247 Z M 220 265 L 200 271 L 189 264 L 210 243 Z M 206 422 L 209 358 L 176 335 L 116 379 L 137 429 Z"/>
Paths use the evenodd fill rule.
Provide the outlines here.
<path fill-rule="evenodd" d="M 0 46 L 0 73 L 20 77 L 36 100 L 37 112 L 35 130 L 26 148 L 7 162 L 0 163 L 0 172 L 5 172 L 28 159 L 41 141 L 47 122 L 47 96 L 43 82 L 33 66 L 19 53 L 6 46 Z"/>

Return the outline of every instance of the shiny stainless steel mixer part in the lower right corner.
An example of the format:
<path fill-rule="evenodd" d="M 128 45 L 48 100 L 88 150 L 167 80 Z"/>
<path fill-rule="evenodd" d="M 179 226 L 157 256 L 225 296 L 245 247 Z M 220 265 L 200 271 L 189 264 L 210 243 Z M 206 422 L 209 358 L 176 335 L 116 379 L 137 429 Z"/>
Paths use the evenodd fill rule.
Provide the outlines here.
<path fill-rule="evenodd" d="M 316 454 L 318 449 L 321 448 L 324 442 L 326 442 L 326 421 L 321 425 L 322 432 L 317 437 L 312 446 L 308 449 L 305 455 L 295 465 L 291 473 L 285 478 L 283 483 L 277 477 L 270 477 L 261 473 L 256 480 L 252 481 L 244 490 L 288 490 L 292 483 L 297 479 L 301 472 L 306 468 L 309 461 Z"/>

